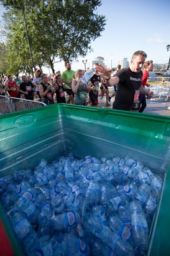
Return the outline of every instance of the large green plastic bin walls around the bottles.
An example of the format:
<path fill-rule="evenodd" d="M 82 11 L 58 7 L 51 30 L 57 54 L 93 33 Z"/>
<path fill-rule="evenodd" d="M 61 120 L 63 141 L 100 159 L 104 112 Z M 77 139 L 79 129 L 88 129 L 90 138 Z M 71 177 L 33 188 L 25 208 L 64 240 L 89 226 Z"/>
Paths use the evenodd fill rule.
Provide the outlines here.
<path fill-rule="evenodd" d="M 169 117 L 54 104 L 0 116 L 0 129 L 0 177 L 22 168 L 33 168 L 42 158 L 50 162 L 69 152 L 77 158 L 128 155 L 159 173 L 164 185 L 151 228 L 148 255 L 169 256 Z M 1 208 L 0 216 L 6 232 L 12 234 Z M 10 239 L 14 252 L 19 255 L 15 236 Z"/>

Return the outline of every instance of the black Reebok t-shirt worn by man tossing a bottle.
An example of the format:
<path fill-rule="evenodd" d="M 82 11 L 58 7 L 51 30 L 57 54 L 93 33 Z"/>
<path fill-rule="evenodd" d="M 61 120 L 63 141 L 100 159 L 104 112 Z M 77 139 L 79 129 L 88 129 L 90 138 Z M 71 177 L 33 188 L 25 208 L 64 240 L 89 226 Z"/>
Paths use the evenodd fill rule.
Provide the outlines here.
<path fill-rule="evenodd" d="M 116 76 L 119 77 L 120 83 L 112 108 L 130 111 L 134 105 L 135 92 L 141 87 L 143 72 L 132 72 L 130 68 L 123 68 L 116 73 Z"/>

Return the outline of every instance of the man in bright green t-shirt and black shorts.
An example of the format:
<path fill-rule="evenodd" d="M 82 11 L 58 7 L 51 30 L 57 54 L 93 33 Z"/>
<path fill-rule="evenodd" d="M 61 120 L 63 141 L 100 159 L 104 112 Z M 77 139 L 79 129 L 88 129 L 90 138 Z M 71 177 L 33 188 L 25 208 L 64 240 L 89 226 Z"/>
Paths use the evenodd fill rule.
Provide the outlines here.
<path fill-rule="evenodd" d="M 65 83 L 66 93 L 68 94 L 68 101 L 66 103 L 74 104 L 74 94 L 72 91 L 72 81 L 75 78 L 75 74 L 71 69 L 71 65 L 69 61 L 65 63 L 66 70 L 62 73 L 61 78 L 63 79 L 63 83 Z"/>

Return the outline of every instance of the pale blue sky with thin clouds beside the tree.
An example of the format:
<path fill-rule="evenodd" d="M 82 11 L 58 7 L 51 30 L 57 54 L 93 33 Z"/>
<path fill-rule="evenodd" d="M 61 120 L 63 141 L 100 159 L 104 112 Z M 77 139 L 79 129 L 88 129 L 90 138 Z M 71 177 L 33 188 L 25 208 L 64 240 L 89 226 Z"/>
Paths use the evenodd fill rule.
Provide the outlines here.
<path fill-rule="evenodd" d="M 0 4 L 0 15 L 3 12 Z M 130 61 L 135 51 L 143 50 L 147 60 L 153 63 L 168 63 L 170 51 L 170 1 L 169 0 L 102 0 L 97 8 L 98 14 L 105 15 L 106 25 L 101 36 L 91 42 L 93 52 L 72 62 L 72 69 L 84 69 L 82 60 L 91 60 L 102 56 L 107 67 L 116 67 L 118 60 Z M 57 63 L 55 70 L 65 70 L 64 63 Z M 49 70 L 43 70 L 49 72 Z"/>

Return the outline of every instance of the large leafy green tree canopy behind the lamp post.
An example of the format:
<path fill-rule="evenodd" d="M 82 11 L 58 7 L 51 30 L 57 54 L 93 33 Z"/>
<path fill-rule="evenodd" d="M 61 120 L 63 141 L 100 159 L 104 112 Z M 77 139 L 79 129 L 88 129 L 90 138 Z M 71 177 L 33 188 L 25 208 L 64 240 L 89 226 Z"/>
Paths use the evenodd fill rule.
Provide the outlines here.
<path fill-rule="evenodd" d="M 8 31 L 6 36 L 10 48 L 13 51 L 17 49 L 20 51 L 19 56 L 15 56 L 19 66 L 25 59 L 27 67 L 31 67 L 21 10 L 24 10 L 26 16 L 34 61 L 36 65 L 40 62 L 52 68 L 52 72 L 55 61 L 72 61 L 79 56 L 86 56 L 92 51 L 91 41 L 98 38 L 104 30 L 105 16 L 96 12 L 97 7 L 101 5 L 100 0 L 1 0 L 1 2 L 9 8 L 4 14 Z M 21 10 L 16 9 L 17 7 Z"/>

